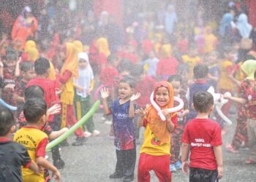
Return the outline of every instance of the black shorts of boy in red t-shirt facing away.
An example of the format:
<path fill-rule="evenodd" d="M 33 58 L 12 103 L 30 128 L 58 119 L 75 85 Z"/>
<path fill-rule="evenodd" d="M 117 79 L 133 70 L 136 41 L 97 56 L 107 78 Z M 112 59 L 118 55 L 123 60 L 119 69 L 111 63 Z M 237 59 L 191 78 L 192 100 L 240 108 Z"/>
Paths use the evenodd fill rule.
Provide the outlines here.
<path fill-rule="evenodd" d="M 189 182 L 218 182 L 217 170 L 189 167 Z"/>

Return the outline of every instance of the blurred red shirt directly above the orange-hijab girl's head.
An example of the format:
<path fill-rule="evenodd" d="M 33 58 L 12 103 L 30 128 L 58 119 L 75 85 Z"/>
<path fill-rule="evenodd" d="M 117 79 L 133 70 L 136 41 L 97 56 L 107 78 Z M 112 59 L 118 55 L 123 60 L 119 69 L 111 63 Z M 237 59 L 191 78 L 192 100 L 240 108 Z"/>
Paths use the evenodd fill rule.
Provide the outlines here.
<path fill-rule="evenodd" d="M 162 58 L 157 64 L 158 76 L 170 76 L 176 74 L 178 61 L 176 58 Z"/>

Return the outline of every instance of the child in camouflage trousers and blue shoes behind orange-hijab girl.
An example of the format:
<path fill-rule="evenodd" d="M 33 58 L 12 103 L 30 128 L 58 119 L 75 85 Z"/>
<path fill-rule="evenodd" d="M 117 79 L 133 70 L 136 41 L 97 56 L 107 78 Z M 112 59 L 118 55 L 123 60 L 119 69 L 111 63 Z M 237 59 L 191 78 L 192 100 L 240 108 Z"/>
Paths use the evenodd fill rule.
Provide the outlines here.
<path fill-rule="evenodd" d="M 173 85 L 174 96 L 181 98 L 184 100 L 184 108 L 178 111 L 178 122 L 176 125 L 176 129 L 172 133 L 171 140 L 171 151 L 170 154 L 170 171 L 175 172 L 176 170 L 181 169 L 181 161 L 179 159 L 180 151 L 181 151 L 181 135 L 184 130 L 184 121 L 186 121 L 185 116 L 189 113 L 188 103 L 186 99 L 185 92 L 181 91 L 181 78 L 178 75 L 170 76 L 167 80 L 170 84 Z M 174 106 L 176 106 L 176 102 L 174 102 Z"/>

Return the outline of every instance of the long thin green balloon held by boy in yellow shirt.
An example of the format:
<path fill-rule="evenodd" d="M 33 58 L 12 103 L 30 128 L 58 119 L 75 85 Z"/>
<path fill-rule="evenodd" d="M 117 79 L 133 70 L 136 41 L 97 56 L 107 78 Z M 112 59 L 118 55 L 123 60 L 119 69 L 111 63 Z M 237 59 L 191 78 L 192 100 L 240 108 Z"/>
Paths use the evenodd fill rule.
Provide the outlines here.
<path fill-rule="evenodd" d="M 61 143 L 61 141 L 64 141 L 66 138 L 68 138 L 70 135 L 72 135 L 75 132 L 75 130 L 78 130 L 78 128 L 80 126 L 85 124 L 88 121 L 88 119 L 92 115 L 94 115 L 94 113 L 98 110 L 99 105 L 100 105 L 100 102 L 99 102 L 99 100 L 97 100 L 96 103 L 94 103 L 94 106 L 91 107 L 90 111 L 88 113 L 86 113 L 86 115 L 84 115 L 76 124 L 74 124 L 72 127 L 70 127 L 67 132 L 64 132 L 58 138 L 56 138 L 55 140 L 48 143 L 48 145 L 46 146 L 46 151 L 50 151 L 50 149 L 52 149 L 54 146 Z"/>

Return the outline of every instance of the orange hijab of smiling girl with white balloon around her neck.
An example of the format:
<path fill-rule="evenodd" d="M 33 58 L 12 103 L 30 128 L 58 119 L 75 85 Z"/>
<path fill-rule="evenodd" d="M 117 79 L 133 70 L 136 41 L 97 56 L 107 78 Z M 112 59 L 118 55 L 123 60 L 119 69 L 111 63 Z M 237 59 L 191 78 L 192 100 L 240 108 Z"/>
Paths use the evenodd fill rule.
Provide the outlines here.
<path fill-rule="evenodd" d="M 157 90 L 159 87 L 166 87 L 169 92 L 169 102 L 165 106 L 161 106 L 160 108 L 173 108 L 173 86 L 168 82 L 159 82 L 156 87 L 154 87 L 154 101 L 156 101 Z M 146 119 L 148 121 L 149 127 L 154 135 L 159 138 L 160 141 L 164 143 L 170 142 L 170 132 L 167 129 L 167 122 L 163 122 L 159 115 L 157 114 L 157 110 L 153 106 L 148 106 L 147 108 L 148 114 L 146 115 Z M 174 116 L 174 114 L 170 114 Z"/>

